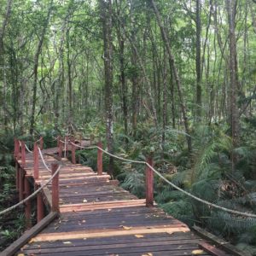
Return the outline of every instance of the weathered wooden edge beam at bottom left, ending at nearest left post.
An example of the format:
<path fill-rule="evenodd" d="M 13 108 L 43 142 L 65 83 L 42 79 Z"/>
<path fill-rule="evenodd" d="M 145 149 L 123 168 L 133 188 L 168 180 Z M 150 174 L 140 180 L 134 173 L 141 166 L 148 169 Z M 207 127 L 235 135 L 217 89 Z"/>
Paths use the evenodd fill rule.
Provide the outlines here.
<path fill-rule="evenodd" d="M 45 218 L 43 218 L 38 224 L 34 225 L 30 230 L 27 230 L 18 240 L 7 247 L 1 256 L 12 256 L 14 255 L 20 247 L 24 246 L 26 242 L 30 241 L 33 236 L 36 236 L 41 230 L 50 224 L 58 214 L 56 212 L 50 212 Z"/>

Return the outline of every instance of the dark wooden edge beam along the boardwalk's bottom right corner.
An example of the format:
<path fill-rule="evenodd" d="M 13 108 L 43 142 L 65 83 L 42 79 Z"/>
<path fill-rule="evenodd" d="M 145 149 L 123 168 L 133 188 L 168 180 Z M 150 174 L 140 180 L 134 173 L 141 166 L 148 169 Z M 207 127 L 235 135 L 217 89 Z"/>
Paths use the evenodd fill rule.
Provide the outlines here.
<path fill-rule="evenodd" d="M 218 247 L 224 249 L 224 251 L 231 253 L 232 255 L 236 256 L 251 256 L 251 254 L 246 252 L 241 252 L 238 248 L 232 246 L 229 242 L 224 241 L 223 239 L 219 238 L 218 236 L 214 236 L 211 233 L 207 232 L 206 230 L 202 230 L 200 227 L 194 225 L 193 230 L 200 236 L 206 238 L 208 241 L 211 241 L 213 244 L 218 245 Z"/>

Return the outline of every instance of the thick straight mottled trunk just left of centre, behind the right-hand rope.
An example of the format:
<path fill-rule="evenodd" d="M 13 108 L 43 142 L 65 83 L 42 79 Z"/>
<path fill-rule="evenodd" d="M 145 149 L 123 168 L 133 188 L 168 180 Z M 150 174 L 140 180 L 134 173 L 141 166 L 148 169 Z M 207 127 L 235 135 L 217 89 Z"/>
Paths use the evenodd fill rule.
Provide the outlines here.
<path fill-rule="evenodd" d="M 108 152 L 113 153 L 113 38 L 112 38 L 112 2 L 101 0 L 104 67 L 105 67 L 105 109 Z M 110 157 L 108 174 L 113 177 L 113 157 Z"/>

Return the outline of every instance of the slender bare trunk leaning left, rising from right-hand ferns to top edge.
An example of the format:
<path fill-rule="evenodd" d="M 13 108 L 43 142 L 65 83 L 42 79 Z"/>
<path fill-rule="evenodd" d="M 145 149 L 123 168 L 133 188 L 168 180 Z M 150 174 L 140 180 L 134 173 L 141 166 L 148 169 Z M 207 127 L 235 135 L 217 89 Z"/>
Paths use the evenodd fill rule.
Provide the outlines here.
<path fill-rule="evenodd" d="M 159 10 L 157 9 L 157 7 L 155 5 L 154 0 L 151 0 L 151 3 L 152 3 L 152 6 L 153 6 L 153 9 L 154 9 L 156 19 L 158 21 L 158 25 L 160 26 L 160 31 L 161 31 L 163 41 L 166 45 L 167 55 L 169 57 L 170 68 L 173 71 L 174 79 L 175 79 L 175 82 L 177 84 L 177 93 L 178 93 L 178 96 L 179 96 L 180 107 L 181 107 L 181 110 L 182 110 L 182 113 L 183 113 L 183 122 L 184 122 L 184 126 L 185 126 L 185 131 L 187 133 L 188 150 L 189 150 L 189 153 L 191 153 L 192 152 L 192 140 L 191 140 L 191 137 L 190 137 L 187 110 L 186 110 L 184 100 L 183 100 L 182 84 L 181 84 L 181 81 L 180 81 L 180 78 L 179 78 L 179 75 L 178 75 L 178 72 L 177 72 L 177 67 L 176 67 L 176 63 L 175 63 L 175 60 L 174 60 L 174 56 L 172 55 L 171 46 L 170 46 L 169 40 L 168 40 L 167 35 L 166 35 L 166 30 L 165 30 L 165 28 L 163 26 L 163 23 L 162 23 L 162 20 L 160 18 Z"/>

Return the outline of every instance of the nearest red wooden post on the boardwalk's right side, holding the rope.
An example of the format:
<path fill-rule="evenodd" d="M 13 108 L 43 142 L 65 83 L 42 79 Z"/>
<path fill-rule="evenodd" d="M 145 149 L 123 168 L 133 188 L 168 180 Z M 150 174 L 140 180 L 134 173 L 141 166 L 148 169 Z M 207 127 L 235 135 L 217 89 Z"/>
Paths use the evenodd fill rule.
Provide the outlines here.
<path fill-rule="evenodd" d="M 148 157 L 147 163 L 153 166 L 152 157 Z M 153 207 L 154 205 L 154 172 L 146 166 L 146 207 Z"/>

